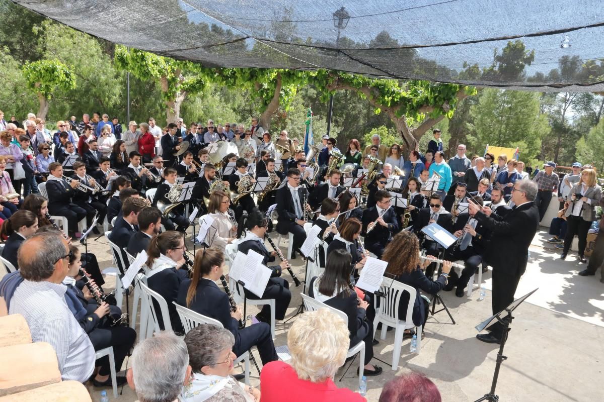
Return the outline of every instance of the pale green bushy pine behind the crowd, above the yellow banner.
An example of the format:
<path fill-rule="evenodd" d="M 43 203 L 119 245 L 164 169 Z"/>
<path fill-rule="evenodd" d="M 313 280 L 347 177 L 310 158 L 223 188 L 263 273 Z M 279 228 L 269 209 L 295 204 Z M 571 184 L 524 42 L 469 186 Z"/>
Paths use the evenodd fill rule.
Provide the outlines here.
<path fill-rule="evenodd" d="M 539 154 L 542 137 L 550 131 L 536 92 L 484 89 L 470 115 L 474 122 L 467 139 L 475 150 L 487 144 L 518 146 L 523 159 L 532 159 Z"/>

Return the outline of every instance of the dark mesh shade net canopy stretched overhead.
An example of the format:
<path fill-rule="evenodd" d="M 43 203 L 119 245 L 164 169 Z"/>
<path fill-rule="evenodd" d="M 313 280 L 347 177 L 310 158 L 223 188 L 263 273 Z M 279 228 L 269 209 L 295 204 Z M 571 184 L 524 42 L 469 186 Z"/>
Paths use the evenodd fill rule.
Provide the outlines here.
<path fill-rule="evenodd" d="M 602 0 L 14 2 L 111 42 L 210 67 L 604 91 Z"/>

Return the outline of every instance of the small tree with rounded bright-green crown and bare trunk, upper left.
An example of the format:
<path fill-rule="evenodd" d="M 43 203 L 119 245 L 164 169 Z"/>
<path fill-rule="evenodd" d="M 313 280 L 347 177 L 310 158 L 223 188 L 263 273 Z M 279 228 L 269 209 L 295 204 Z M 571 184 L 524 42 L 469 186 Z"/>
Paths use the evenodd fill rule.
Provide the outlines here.
<path fill-rule="evenodd" d="M 27 86 L 36 91 L 40 108 L 36 116 L 46 119 L 48 100 L 56 90 L 67 91 L 76 87 L 76 77 L 71 68 L 59 60 L 38 60 L 23 66 Z"/>

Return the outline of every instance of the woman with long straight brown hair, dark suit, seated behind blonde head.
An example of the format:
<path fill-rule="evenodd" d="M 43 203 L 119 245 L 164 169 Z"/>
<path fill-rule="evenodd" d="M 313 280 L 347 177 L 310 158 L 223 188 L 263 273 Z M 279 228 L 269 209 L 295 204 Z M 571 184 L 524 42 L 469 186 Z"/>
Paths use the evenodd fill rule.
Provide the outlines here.
<path fill-rule="evenodd" d="M 219 248 L 200 250 L 195 255 L 193 277 L 182 281 L 177 303 L 199 314 L 220 321 L 235 338 L 233 353 L 241 356 L 250 348 L 258 347 L 262 364 L 277 360 L 277 351 L 272 343 L 271 325 L 266 322 L 239 328 L 243 311 L 237 306 L 232 310 L 228 295 L 216 285 L 224 273 L 225 259 Z"/>

